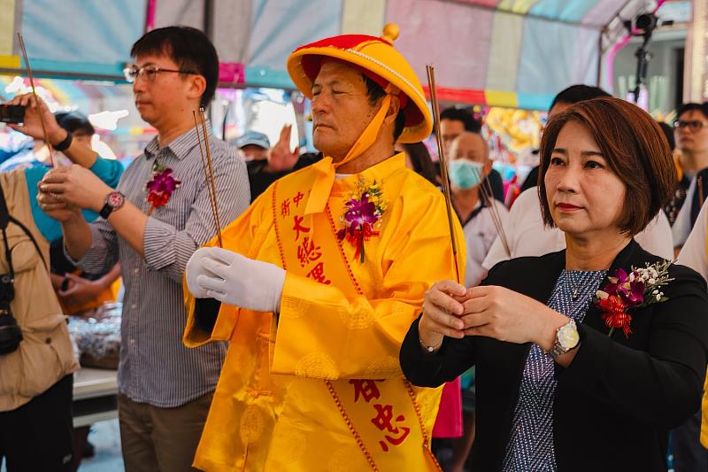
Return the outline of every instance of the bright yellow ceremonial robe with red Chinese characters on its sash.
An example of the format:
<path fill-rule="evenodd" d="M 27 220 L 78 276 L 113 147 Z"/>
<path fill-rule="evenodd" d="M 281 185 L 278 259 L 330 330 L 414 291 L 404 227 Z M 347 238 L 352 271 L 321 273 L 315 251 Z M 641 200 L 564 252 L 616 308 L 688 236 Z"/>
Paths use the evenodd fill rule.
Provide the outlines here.
<path fill-rule="evenodd" d="M 441 389 L 408 383 L 398 351 L 429 286 L 456 277 L 443 194 L 398 154 L 336 181 L 325 211 L 305 215 L 315 177 L 306 167 L 275 182 L 223 231 L 225 249 L 287 270 L 277 318 L 222 305 L 205 333 L 185 288 L 185 344 L 231 341 L 195 467 L 439 470 L 429 441 Z M 388 200 L 364 263 L 336 237 L 358 182 Z"/>

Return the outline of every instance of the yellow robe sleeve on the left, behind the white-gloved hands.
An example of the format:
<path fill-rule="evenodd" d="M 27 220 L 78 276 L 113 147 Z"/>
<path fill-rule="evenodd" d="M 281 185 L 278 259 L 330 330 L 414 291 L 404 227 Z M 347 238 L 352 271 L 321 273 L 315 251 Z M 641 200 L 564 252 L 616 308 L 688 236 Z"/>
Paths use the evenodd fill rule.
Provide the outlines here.
<path fill-rule="evenodd" d="M 273 227 L 272 199 L 273 186 L 256 198 L 240 217 L 221 231 L 224 249 L 255 259 L 268 231 Z M 210 242 L 204 244 L 204 247 L 217 244 L 218 239 L 214 237 Z M 231 339 L 241 309 L 221 304 L 214 328 L 211 333 L 207 333 L 200 329 L 195 322 L 196 298 L 189 293 L 186 275 L 182 277 L 182 290 L 184 305 L 187 307 L 187 326 L 184 329 L 183 343 L 187 347 L 197 347 L 210 341 Z"/>

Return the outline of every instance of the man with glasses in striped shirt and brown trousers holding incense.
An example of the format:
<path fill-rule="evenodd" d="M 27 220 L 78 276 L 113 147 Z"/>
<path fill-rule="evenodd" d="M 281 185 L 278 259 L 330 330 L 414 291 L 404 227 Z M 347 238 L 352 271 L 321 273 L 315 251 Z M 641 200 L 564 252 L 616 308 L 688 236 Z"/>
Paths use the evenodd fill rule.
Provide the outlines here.
<path fill-rule="evenodd" d="M 126 75 L 134 81 L 135 104 L 158 136 L 127 168 L 118 192 L 73 166 L 52 171 L 38 199 L 61 221 L 65 252 L 77 266 L 90 273 L 121 265 L 119 422 L 126 470 L 182 471 L 191 467 L 227 350 L 224 343 L 194 350 L 181 343 L 182 273 L 215 234 L 192 111 L 211 101 L 219 59 L 209 39 L 189 27 L 153 30 L 131 56 L 135 66 Z M 246 166 L 211 132 L 209 143 L 226 225 L 249 205 Z M 76 207 L 100 211 L 104 219 L 89 225 Z"/>

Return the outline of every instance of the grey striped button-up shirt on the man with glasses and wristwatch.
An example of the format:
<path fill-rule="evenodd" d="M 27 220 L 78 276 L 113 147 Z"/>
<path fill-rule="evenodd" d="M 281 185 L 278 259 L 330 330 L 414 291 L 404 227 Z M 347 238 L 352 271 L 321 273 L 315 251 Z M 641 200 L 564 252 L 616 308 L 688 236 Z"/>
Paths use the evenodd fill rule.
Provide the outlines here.
<path fill-rule="evenodd" d="M 219 221 L 222 226 L 250 203 L 248 174 L 235 148 L 210 134 Z M 167 205 L 150 213 L 145 184 L 153 166 L 173 170 L 181 181 Z M 196 248 L 215 234 L 209 187 L 205 182 L 196 129 L 163 148 L 153 139 L 144 154 L 128 166 L 118 190 L 149 213 L 143 248 L 145 258 L 119 237 L 111 224 L 91 224 L 91 249 L 77 262 L 85 271 L 103 272 L 120 262 L 125 285 L 119 389 L 129 398 L 160 407 L 181 406 L 216 388 L 227 351 L 224 343 L 196 349 L 182 344 L 187 321 L 182 274 Z M 68 255 L 68 254 L 67 254 Z"/>

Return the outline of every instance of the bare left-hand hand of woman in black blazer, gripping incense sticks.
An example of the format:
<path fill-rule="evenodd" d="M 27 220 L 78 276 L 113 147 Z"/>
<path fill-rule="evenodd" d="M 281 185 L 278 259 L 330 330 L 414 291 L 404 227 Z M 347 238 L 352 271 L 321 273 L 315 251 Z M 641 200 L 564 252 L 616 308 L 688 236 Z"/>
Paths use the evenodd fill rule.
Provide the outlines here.
<path fill-rule="evenodd" d="M 465 337 L 465 328 L 459 316 L 464 313 L 462 303 L 466 289 L 457 282 L 435 282 L 426 292 L 423 315 L 418 324 L 420 342 L 428 347 L 439 348 L 444 337 Z"/>

